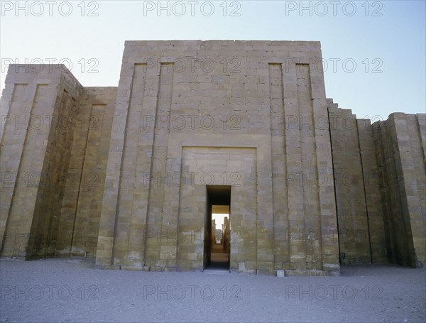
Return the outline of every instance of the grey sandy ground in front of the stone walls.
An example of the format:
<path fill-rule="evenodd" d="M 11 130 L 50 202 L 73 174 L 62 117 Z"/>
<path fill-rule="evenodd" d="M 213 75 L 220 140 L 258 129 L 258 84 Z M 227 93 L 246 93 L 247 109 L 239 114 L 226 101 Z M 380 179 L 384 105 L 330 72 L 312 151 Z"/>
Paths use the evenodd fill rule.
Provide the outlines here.
<path fill-rule="evenodd" d="M 425 268 L 340 277 L 99 270 L 81 258 L 0 260 L 1 322 L 425 322 Z"/>

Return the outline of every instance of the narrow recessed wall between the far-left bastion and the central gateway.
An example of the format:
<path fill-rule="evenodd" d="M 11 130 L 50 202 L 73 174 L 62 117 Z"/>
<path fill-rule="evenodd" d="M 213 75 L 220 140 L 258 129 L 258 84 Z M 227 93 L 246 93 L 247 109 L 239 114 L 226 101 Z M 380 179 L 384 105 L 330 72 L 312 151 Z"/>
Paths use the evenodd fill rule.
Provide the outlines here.
<path fill-rule="evenodd" d="M 115 103 L 116 87 L 84 87 L 80 96 L 56 255 L 96 254 Z"/>

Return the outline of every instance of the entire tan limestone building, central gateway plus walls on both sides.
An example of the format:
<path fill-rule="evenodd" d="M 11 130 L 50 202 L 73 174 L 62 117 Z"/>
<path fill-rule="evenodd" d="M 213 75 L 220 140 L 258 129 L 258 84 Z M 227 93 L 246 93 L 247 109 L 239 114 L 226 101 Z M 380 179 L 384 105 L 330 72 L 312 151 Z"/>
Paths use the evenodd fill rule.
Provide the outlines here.
<path fill-rule="evenodd" d="M 11 65 L 1 256 L 202 270 L 229 195 L 232 271 L 425 263 L 425 114 L 357 120 L 320 64 L 318 42 L 176 40 L 126 41 L 119 87 Z"/>

